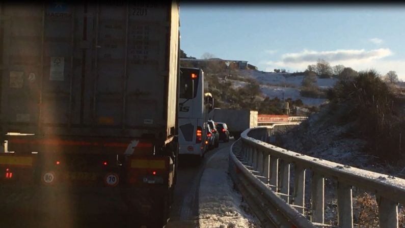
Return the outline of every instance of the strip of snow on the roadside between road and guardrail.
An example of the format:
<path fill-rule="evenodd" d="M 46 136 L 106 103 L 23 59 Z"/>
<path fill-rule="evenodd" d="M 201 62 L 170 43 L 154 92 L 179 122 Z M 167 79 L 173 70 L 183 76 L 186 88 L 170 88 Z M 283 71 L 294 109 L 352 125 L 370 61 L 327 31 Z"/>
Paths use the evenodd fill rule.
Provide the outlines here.
<path fill-rule="evenodd" d="M 242 196 L 228 176 L 229 147 L 213 155 L 200 181 L 199 223 L 205 227 L 258 227 L 258 220 L 241 208 Z"/>

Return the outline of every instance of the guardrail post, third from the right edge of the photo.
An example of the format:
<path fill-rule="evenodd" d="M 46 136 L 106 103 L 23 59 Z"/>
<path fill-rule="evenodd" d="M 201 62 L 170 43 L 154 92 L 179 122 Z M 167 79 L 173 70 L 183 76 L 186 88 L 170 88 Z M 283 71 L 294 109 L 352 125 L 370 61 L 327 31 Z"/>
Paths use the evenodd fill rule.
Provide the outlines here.
<path fill-rule="evenodd" d="M 312 172 L 312 222 L 324 222 L 325 178 Z"/>

